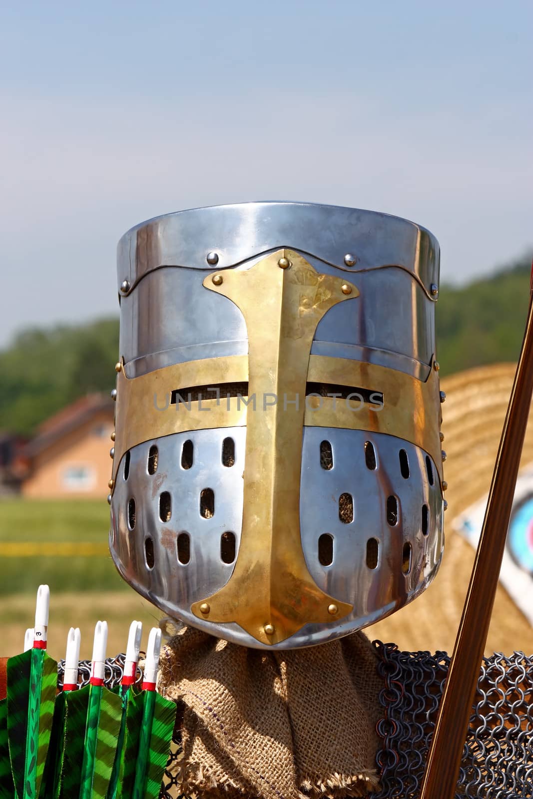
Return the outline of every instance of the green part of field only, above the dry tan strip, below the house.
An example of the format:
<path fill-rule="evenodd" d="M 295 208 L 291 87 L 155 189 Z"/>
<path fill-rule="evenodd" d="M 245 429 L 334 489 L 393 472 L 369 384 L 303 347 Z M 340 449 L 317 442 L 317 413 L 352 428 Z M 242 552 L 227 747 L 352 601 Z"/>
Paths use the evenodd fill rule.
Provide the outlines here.
<path fill-rule="evenodd" d="M 0 500 L 0 596 L 34 594 L 41 582 L 56 592 L 127 590 L 106 551 L 108 534 L 105 500 Z M 57 552 L 27 555 L 28 548 L 19 546 L 25 543 L 46 543 Z M 62 554 L 62 544 L 68 545 L 68 555 Z M 101 552 L 72 554 L 78 544 L 92 544 Z"/>

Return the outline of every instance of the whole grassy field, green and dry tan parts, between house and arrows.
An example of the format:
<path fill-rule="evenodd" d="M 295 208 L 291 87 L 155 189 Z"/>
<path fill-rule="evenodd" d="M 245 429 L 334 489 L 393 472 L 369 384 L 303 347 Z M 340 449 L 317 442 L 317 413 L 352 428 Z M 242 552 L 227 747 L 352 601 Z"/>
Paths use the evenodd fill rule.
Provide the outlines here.
<path fill-rule="evenodd" d="M 42 582 L 50 586 L 54 658 L 64 657 L 70 626 L 82 630 L 82 658 L 89 658 L 99 618 L 109 623 L 109 654 L 124 651 L 133 618 L 143 622 L 147 640 L 148 628 L 161 614 L 117 573 L 108 533 L 105 500 L 0 500 L 0 656 L 22 651 Z"/>

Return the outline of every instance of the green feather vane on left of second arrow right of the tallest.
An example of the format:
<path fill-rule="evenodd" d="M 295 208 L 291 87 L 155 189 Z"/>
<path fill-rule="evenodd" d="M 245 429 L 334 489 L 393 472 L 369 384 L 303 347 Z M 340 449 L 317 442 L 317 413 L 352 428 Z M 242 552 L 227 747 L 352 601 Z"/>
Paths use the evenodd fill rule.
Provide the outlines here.
<path fill-rule="evenodd" d="M 61 799 L 77 799 L 80 793 L 83 758 L 83 733 L 86 729 L 89 686 L 63 694 L 65 699 L 65 737 L 62 755 Z"/>

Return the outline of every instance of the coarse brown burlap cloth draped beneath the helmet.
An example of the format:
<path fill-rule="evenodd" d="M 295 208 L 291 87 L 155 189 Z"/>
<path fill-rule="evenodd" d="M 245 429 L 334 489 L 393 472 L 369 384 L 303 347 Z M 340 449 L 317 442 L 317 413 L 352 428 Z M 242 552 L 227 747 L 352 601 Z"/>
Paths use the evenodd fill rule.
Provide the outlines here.
<path fill-rule="evenodd" d="M 182 710 L 179 793 L 308 799 L 376 790 L 376 664 L 362 633 L 265 652 L 184 627 L 162 650 L 159 685 Z"/>

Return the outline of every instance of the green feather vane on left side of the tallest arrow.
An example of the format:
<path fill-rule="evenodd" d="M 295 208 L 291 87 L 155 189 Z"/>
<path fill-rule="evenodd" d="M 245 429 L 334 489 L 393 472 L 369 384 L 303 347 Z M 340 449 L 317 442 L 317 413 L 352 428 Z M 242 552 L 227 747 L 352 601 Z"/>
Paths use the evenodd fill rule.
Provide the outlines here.
<path fill-rule="evenodd" d="M 28 695 L 30 692 L 31 653 L 28 650 L 9 658 L 7 677 L 7 737 L 10 749 L 11 773 L 19 799 L 24 796 L 24 763 L 26 761 L 26 730 L 28 729 Z"/>

